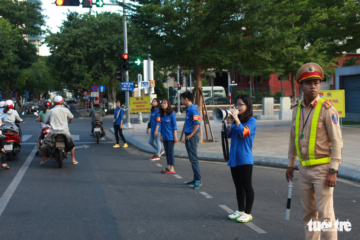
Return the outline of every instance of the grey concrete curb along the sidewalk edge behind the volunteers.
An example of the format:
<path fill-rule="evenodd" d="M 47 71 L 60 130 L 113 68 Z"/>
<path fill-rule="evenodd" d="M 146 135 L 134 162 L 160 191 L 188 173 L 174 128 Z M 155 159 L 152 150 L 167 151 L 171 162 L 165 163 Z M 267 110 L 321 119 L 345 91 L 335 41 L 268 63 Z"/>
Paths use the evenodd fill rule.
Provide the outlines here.
<path fill-rule="evenodd" d="M 114 129 L 110 128 L 110 132 L 114 134 Z M 146 145 L 142 143 L 141 141 L 137 140 L 133 136 L 123 133 L 126 141 L 133 145 L 134 147 L 138 148 L 139 150 L 147 153 L 153 153 L 154 149 L 153 147 Z M 174 155 L 176 158 L 188 158 L 187 152 L 184 150 L 175 150 Z M 258 166 L 268 166 L 268 167 L 275 167 L 275 168 L 288 168 L 288 158 L 284 156 L 278 156 L 278 155 L 263 155 L 263 154 L 254 154 L 253 161 L 254 165 Z M 210 162 L 225 162 L 223 160 L 223 154 L 222 153 L 209 153 L 209 152 L 198 152 L 198 158 L 200 160 L 210 161 Z M 298 169 L 299 162 L 296 161 L 295 169 Z M 345 166 L 344 166 L 345 165 Z M 342 165 L 339 166 L 339 172 L 337 173 L 337 176 L 360 182 L 360 167 L 359 169 L 354 169 L 351 164 L 342 163 Z"/>

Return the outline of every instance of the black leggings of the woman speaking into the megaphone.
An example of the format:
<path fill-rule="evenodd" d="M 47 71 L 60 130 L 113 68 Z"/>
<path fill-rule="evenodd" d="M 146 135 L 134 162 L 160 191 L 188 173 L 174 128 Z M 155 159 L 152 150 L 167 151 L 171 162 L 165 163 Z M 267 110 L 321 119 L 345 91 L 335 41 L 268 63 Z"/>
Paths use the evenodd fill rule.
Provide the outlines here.
<path fill-rule="evenodd" d="M 239 211 L 250 214 L 254 202 L 254 190 L 252 189 L 252 165 L 245 164 L 231 167 L 231 176 L 236 188 L 236 199 Z"/>

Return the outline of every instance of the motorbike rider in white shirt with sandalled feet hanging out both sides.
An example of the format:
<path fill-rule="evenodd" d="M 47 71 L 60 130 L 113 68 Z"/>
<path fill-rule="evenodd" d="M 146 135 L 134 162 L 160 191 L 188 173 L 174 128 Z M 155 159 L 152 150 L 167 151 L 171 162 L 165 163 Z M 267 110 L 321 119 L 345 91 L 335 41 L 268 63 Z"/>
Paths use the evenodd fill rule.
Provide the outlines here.
<path fill-rule="evenodd" d="M 69 125 L 72 123 L 73 115 L 70 112 L 70 110 L 64 106 L 62 106 L 64 99 L 60 95 L 55 96 L 54 98 L 54 104 L 55 106 L 49 110 L 49 113 L 47 114 L 45 120 L 47 124 L 50 124 L 50 132 L 53 132 L 54 130 L 65 132 L 68 135 L 71 135 L 69 132 Z M 69 122 L 68 122 L 69 119 Z M 47 146 L 45 145 L 42 148 L 42 159 L 40 165 L 43 165 L 47 159 L 46 159 L 46 153 L 47 153 Z M 75 160 L 75 149 L 72 148 L 70 150 L 71 156 L 72 156 L 72 164 L 77 164 Z"/>

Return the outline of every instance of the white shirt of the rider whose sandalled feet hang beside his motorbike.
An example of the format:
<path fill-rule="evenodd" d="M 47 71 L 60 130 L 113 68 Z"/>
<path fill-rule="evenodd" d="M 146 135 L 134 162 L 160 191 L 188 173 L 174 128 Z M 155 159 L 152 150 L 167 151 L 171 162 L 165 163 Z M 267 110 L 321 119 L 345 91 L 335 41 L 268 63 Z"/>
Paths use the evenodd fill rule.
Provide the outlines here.
<path fill-rule="evenodd" d="M 74 116 L 70 110 L 61 105 L 56 105 L 54 108 L 49 110 L 45 120 L 50 122 L 51 130 L 58 130 L 69 133 L 68 119 L 72 119 Z"/>

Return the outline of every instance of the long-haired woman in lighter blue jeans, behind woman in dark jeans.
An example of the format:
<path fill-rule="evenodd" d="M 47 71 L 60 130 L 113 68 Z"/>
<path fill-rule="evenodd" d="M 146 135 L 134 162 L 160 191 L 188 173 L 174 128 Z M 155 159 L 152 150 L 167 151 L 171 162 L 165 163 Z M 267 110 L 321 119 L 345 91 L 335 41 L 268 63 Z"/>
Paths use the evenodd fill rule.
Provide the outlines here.
<path fill-rule="evenodd" d="M 151 114 L 149 123 L 147 124 L 146 134 L 149 135 L 148 143 L 156 149 L 156 152 L 154 156 L 149 158 L 150 160 L 160 160 L 160 156 L 164 153 L 164 151 L 161 150 L 160 135 L 158 135 L 160 127 L 159 108 L 160 100 L 157 98 L 153 99 L 151 102 Z"/>

